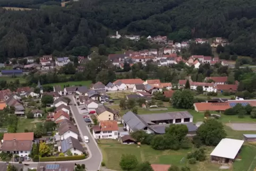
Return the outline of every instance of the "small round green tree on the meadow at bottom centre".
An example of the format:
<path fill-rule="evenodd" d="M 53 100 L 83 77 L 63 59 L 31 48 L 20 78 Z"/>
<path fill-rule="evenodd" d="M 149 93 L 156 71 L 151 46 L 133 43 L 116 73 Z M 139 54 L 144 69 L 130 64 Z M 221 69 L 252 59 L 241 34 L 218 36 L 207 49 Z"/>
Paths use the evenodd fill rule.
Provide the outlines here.
<path fill-rule="evenodd" d="M 134 155 L 122 155 L 119 165 L 123 170 L 133 170 L 137 167 L 138 160 Z"/>

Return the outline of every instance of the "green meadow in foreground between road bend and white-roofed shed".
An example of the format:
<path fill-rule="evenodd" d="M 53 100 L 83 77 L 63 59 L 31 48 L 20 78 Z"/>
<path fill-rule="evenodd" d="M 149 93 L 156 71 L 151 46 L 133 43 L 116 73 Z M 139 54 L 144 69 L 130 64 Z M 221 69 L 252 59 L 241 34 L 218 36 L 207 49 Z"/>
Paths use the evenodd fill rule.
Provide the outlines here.
<path fill-rule="evenodd" d="M 103 152 L 103 161 L 106 163 L 106 167 L 114 170 L 121 170 L 119 160 L 121 156 L 125 154 L 135 155 L 139 162 L 149 161 L 151 164 L 189 166 L 191 167 L 191 170 L 216 171 L 219 168 L 218 164 L 212 164 L 209 160 L 209 154 L 214 147 L 206 147 L 207 160 L 200 163 L 198 162 L 195 165 L 188 164 L 186 159 L 187 153 L 193 151 L 193 148 L 176 151 L 154 150 L 150 146 L 144 144 L 138 148 L 135 144 L 125 145 L 115 140 L 100 140 L 99 147 Z"/>

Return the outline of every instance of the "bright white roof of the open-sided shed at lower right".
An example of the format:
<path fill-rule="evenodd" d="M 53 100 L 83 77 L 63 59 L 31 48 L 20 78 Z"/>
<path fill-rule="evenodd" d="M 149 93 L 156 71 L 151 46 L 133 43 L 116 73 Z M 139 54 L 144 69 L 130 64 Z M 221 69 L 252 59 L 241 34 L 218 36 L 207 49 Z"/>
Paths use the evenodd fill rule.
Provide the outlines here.
<path fill-rule="evenodd" d="M 223 157 L 228 159 L 235 159 L 238 151 L 242 147 L 243 140 L 222 139 L 218 146 L 211 152 L 211 156 Z"/>

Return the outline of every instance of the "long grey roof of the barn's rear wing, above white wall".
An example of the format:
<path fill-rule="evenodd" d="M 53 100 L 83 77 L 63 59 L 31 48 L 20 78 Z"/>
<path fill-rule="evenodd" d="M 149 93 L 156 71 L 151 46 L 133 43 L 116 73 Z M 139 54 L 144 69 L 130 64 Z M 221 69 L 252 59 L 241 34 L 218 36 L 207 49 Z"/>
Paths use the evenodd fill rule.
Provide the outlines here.
<path fill-rule="evenodd" d="M 166 113 L 158 113 L 158 114 L 145 114 L 140 115 L 144 121 L 163 121 L 169 119 L 182 119 L 182 118 L 193 118 L 193 116 L 187 111 L 181 112 L 166 112 Z"/>

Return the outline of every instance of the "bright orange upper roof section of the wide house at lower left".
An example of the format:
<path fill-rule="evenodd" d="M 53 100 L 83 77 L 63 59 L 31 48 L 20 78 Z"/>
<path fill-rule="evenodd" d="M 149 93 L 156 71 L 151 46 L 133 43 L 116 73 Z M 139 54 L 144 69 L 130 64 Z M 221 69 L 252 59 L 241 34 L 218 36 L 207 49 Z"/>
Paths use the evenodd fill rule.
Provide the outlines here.
<path fill-rule="evenodd" d="M 34 133 L 33 132 L 22 132 L 22 133 L 4 133 L 4 141 L 11 140 L 33 140 Z"/>

